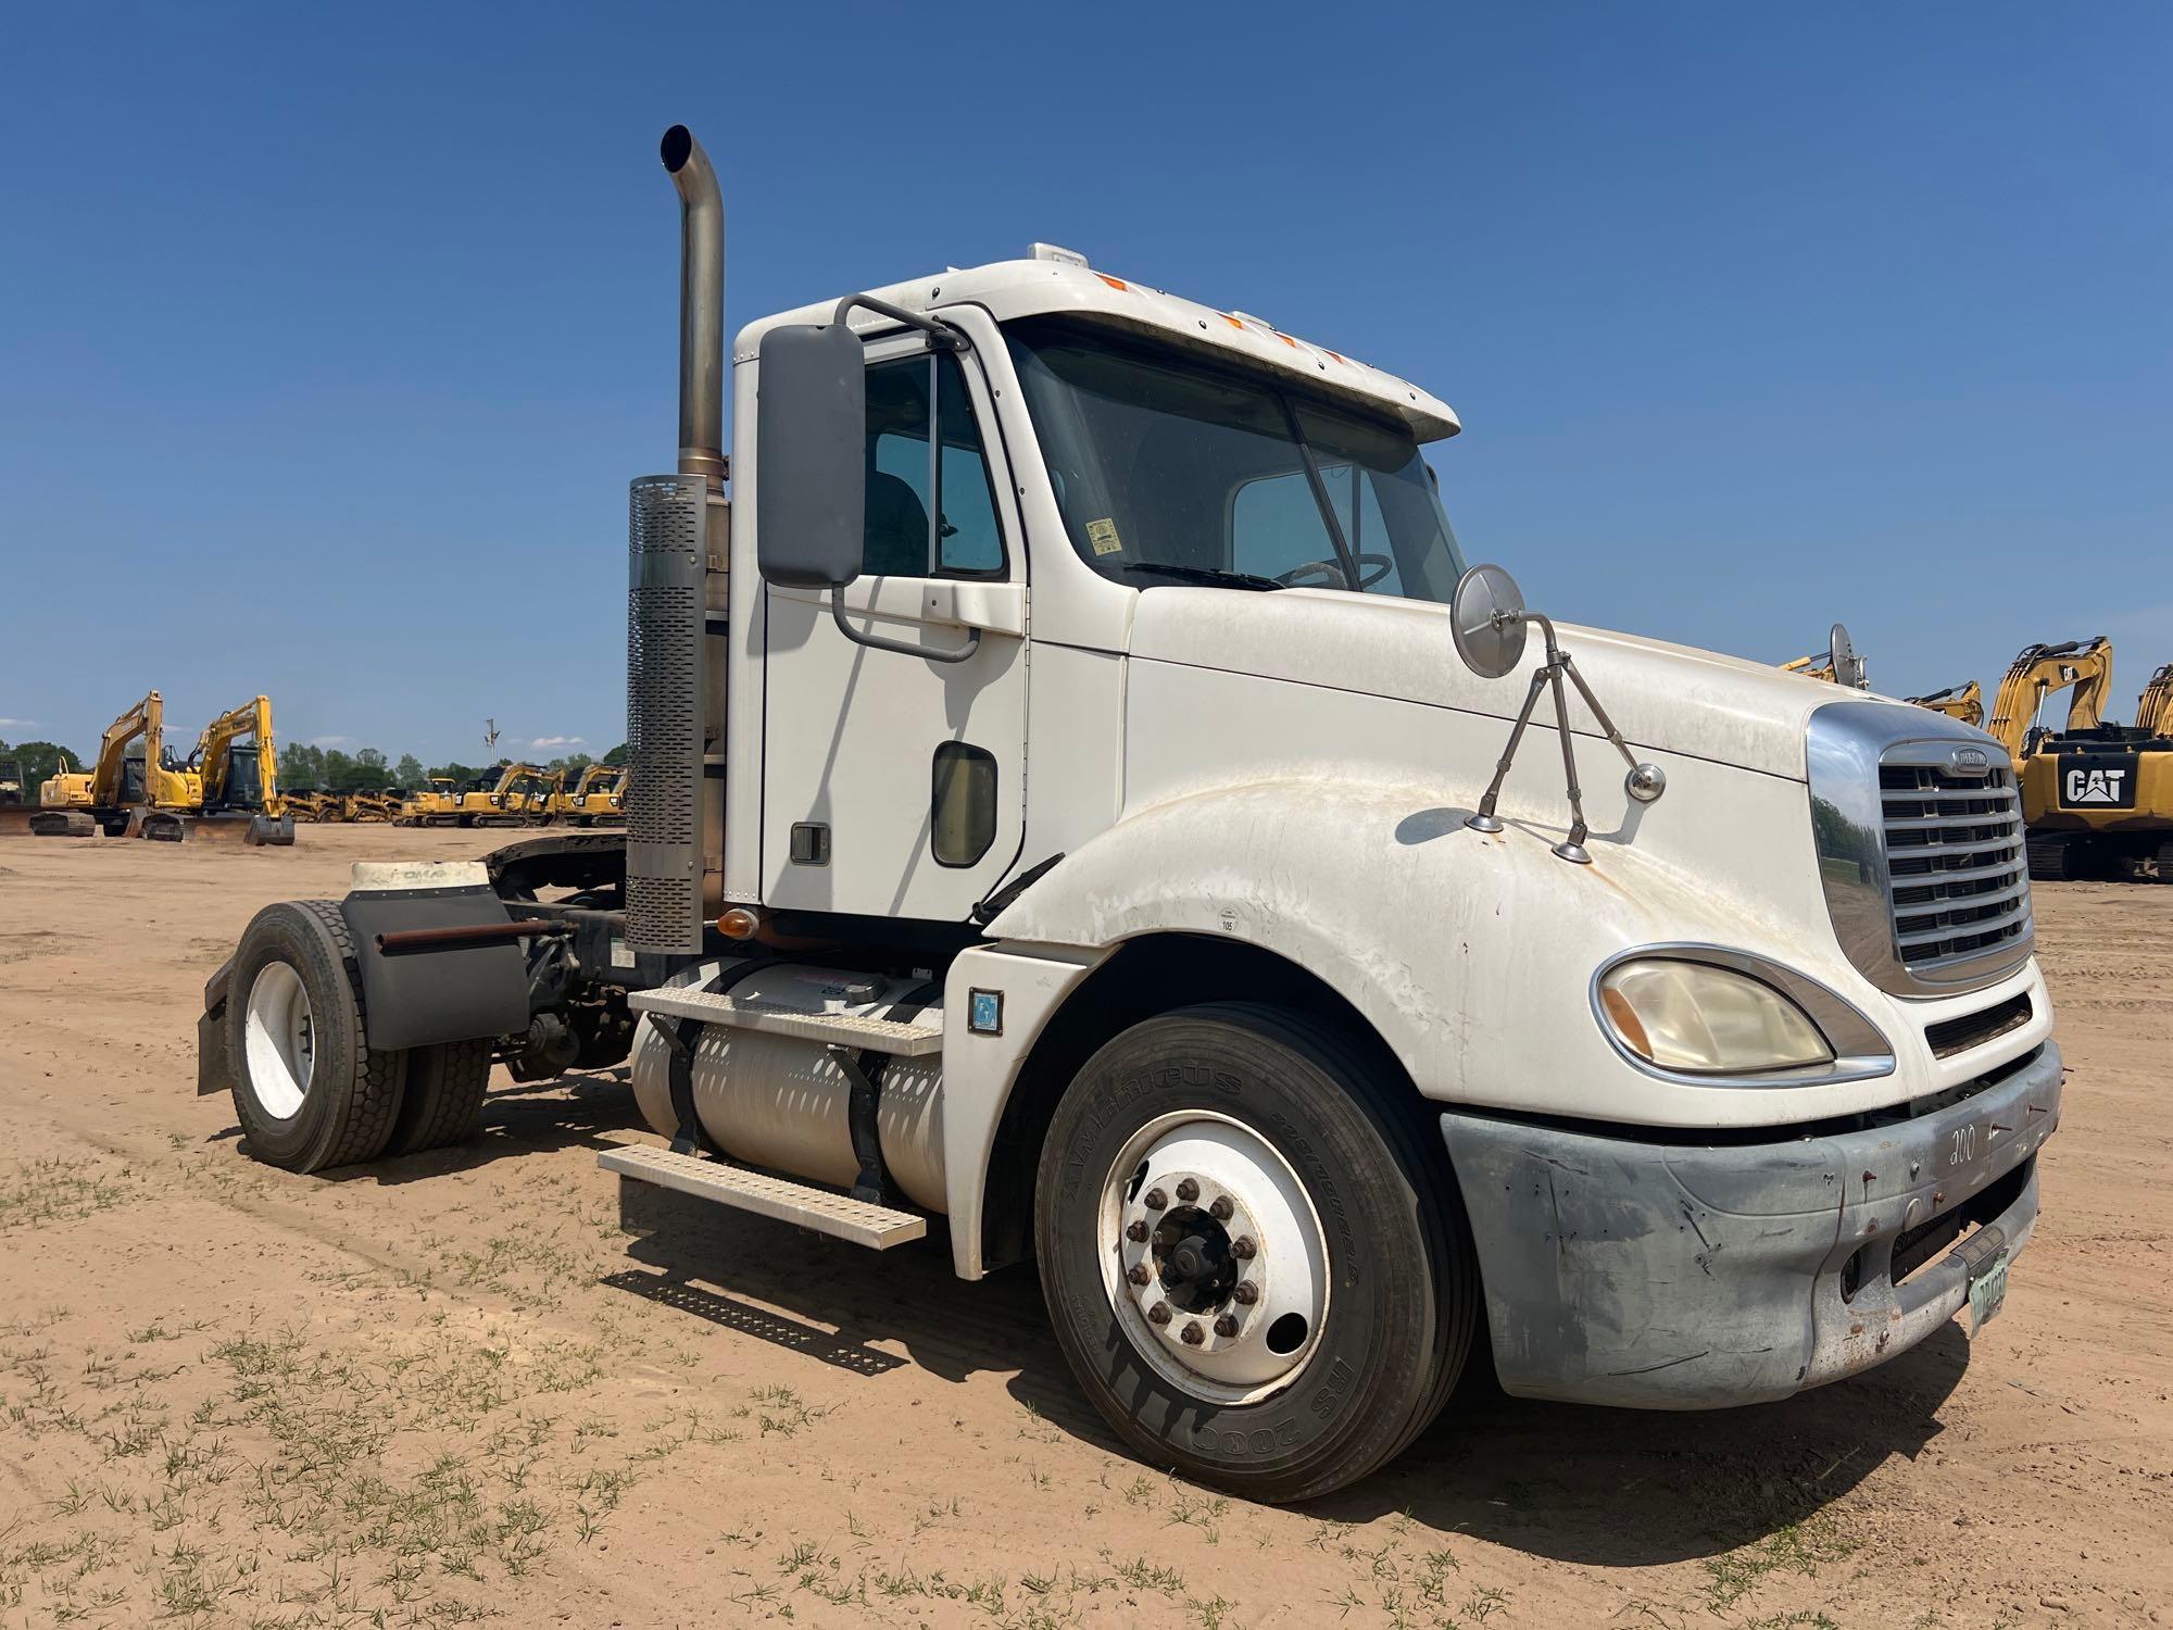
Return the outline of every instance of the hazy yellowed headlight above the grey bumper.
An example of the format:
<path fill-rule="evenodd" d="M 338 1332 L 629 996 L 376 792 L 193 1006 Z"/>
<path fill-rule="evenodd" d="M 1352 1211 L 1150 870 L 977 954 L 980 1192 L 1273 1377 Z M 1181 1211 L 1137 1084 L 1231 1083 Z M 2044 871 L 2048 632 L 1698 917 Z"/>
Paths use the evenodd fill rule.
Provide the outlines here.
<path fill-rule="evenodd" d="M 1827 1065 L 1819 1026 L 1771 985 L 1710 963 L 1638 956 L 1599 980 L 1615 1039 L 1662 1069 L 1758 1071 Z"/>

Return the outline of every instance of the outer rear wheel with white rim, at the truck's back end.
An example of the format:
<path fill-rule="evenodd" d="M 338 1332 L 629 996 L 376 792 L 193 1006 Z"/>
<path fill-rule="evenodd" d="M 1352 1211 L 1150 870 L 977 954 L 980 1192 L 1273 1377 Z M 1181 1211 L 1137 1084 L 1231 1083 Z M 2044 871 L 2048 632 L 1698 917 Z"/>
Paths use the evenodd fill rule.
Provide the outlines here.
<path fill-rule="evenodd" d="M 363 978 L 332 900 L 287 900 L 241 935 L 226 1056 L 248 1152 L 287 1171 L 374 1161 L 400 1117 L 404 1052 L 363 1039 Z"/>

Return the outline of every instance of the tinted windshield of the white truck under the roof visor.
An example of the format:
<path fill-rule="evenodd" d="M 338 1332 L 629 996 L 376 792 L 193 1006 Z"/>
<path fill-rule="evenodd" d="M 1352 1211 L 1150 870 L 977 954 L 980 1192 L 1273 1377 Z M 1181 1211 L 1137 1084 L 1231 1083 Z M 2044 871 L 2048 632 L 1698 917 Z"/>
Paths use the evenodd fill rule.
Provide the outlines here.
<path fill-rule="evenodd" d="M 1006 337 L 1065 530 L 1102 576 L 1456 593 L 1456 537 L 1410 430 L 1106 328 Z"/>

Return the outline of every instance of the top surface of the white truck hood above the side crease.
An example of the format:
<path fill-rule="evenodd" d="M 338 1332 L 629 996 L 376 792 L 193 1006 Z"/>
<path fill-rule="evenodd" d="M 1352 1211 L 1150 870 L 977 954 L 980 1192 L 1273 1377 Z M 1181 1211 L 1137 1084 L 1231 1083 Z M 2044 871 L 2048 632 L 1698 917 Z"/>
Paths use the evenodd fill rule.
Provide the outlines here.
<path fill-rule="evenodd" d="M 1573 624 L 1560 624 L 1558 632 L 1615 726 L 1632 748 L 1651 752 L 1804 780 L 1804 726 L 1810 715 L 1841 695 L 1860 698 L 1823 680 L 1691 645 Z M 1328 589 L 1254 593 L 1184 585 L 1139 595 L 1130 654 L 1399 698 L 1493 715 L 1506 724 L 1523 706 L 1532 672 L 1543 661 L 1543 641 L 1534 630 L 1517 672 L 1486 680 L 1456 656 L 1449 609 L 1441 604 Z M 1541 698 L 1532 717 L 1552 726 L 1552 700 Z M 1599 735 L 1599 724 L 1573 691 L 1569 722 L 1580 735 Z"/>

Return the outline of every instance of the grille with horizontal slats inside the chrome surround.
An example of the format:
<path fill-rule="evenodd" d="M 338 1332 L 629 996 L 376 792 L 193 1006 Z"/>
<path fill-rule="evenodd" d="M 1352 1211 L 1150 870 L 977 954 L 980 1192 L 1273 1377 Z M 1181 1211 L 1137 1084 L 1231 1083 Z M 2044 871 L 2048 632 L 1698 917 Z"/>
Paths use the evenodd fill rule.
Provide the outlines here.
<path fill-rule="evenodd" d="M 1880 806 L 1886 898 L 1906 967 L 1975 958 L 2027 932 L 2030 869 L 2010 769 L 1958 774 L 1888 758 Z"/>

